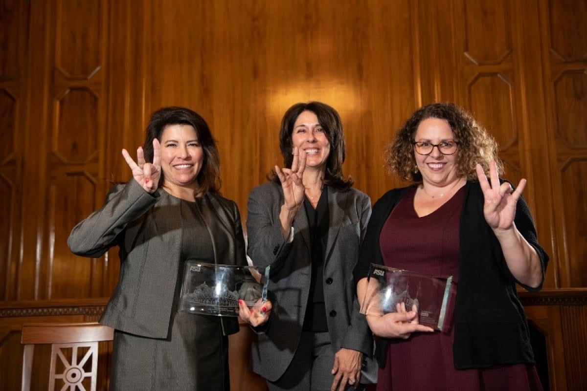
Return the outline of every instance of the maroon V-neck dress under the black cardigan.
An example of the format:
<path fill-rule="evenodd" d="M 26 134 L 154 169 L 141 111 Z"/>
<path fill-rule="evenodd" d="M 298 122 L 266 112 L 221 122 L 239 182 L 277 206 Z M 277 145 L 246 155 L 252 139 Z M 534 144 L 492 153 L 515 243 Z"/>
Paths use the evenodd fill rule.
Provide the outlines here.
<path fill-rule="evenodd" d="M 410 189 L 383 226 L 379 240 L 384 264 L 433 276 L 453 276 L 452 294 L 456 297 L 458 227 L 464 189 L 422 217 L 414 210 L 416 188 Z M 453 311 L 449 309 L 448 328 L 442 332 L 392 339 L 387 345 L 385 367 L 379 369 L 377 390 L 542 390 L 538 373 L 531 365 L 454 369 Z"/>

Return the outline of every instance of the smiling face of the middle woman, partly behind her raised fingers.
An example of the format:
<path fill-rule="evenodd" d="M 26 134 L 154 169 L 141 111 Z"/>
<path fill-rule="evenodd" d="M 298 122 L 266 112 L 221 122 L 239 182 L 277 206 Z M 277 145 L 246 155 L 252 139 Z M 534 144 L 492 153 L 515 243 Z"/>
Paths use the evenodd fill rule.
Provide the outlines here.
<path fill-rule="evenodd" d="M 294 124 L 292 144 L 306 152 L 306 169 L 326 169 L 330 142 L 312 111 L 302 111 Z"/>

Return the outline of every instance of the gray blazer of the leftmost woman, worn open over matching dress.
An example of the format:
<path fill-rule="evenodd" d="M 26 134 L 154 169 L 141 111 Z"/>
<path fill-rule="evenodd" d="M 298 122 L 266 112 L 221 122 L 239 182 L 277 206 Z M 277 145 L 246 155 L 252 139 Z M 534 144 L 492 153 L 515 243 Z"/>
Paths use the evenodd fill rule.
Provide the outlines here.
<path fill-rule="evenodd" d="M 206 195 L 202 213 L 217 263 L 247 264 L 241 217 L 231 200 Z M 152 195 L 131 179 L 116 185 L 99 210 L 77 224 L 68 238 L 72 252 L 97 258 L 119 246 L 120 274 L 100 322 L 149 338 L 170 333 L 180 270 L 180 200 L 158 189 Z M 238 331 L 236 318 L 222 318 L 224 335 Z"/>

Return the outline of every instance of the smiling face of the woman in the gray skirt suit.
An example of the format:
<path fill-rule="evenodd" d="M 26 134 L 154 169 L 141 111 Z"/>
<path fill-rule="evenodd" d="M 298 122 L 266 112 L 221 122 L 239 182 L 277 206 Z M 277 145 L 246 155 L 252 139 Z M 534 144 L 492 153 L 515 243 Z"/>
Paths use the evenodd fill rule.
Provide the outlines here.
<path fill-rule="evenodd" d="M 161 133 L 163 186 L 177 195 L 198 187 L 197 176 L 204 164 L 204 149 L 191 125 L 167 125 Z"/>

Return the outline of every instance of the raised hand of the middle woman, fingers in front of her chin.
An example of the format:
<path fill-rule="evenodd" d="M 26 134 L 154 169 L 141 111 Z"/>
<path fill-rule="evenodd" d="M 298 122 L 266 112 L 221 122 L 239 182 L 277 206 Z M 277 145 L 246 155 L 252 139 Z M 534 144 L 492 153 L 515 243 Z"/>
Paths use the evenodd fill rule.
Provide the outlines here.
<path fill-rule="evenodd" d="M 294 161 L 292 168 L 279 168 L 275 166 L 275 173 L 281 188 L 284 191 L 284 206 L 288 210 L 298 210 L 302 205 L 305 188 L 302 183 L 303 171 L 306 169 L 306 152 L 294 147 Z"/>

